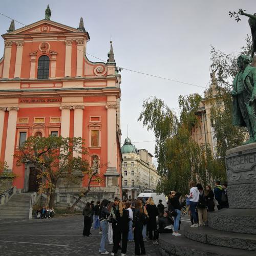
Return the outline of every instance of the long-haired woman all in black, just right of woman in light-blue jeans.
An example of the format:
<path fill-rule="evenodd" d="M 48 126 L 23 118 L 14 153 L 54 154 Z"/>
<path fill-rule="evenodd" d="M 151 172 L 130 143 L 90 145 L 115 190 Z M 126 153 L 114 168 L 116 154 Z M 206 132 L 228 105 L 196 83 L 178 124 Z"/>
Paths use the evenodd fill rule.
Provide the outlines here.
<path fill-rule="evenodd" d="M 114 237 L 114 245 L 112 249 L 112 254 L 117 253 L 118 247 L 121 241 L 121 234 L 122 234 L 122 255 L 126 253 L 127 250 L 127 238 L 129 232 L 129 211 L 125 210 L 125 203 L 119 203 L 119 212 L 116 215 L 116 229 L 113 230 L 115 233 Z"/>

